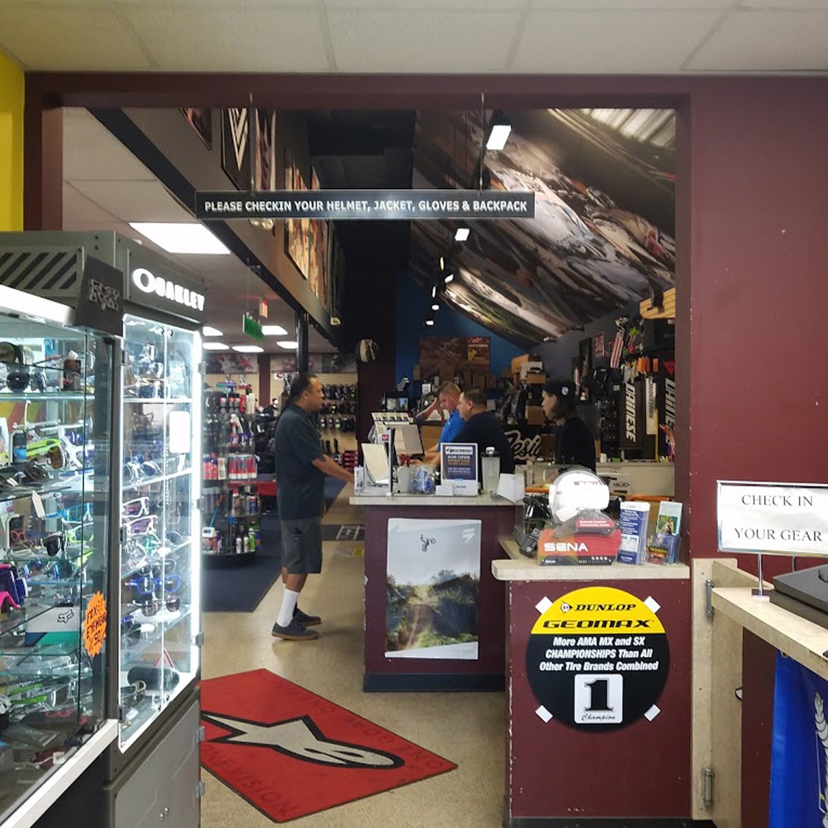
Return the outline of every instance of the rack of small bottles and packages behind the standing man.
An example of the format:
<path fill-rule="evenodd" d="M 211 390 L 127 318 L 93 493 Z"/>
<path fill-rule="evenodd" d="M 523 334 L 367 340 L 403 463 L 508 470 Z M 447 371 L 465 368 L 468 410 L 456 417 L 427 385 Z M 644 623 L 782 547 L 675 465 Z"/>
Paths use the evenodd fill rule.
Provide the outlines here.
<path fill-rule="evenodd" d="M 246 399 L 225 390 L 204 395 L 201 552 L 205 564 L 250 561 L 261 546 L 257 426 L 255 415 L 247 413 Z"/>

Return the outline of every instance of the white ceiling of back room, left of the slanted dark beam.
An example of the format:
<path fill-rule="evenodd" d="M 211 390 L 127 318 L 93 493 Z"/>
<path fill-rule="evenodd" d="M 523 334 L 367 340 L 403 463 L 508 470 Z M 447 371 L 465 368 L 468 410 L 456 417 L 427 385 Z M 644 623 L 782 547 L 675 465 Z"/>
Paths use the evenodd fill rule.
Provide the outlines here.
<path fill-rule="evenodd" d="M 194 220 L 147 167 L 85 109 L 64 110 L 63 140 L 65 230 L 115 230 L 159 250 L 129 222 Z M 204 279 L 208 322 L 224 331 L 224 343 L 251 344 L 242 334 L 242 314 L 245 310 L 256 313 L 260 297 L 267 300 L 267 324 L 282 325 L 287 338 L 295 338 L 296 315 L 291 307 L 235 256 L 165 255 Z M 335 350 L 313 329 L 309 344 L 313 353 Z M 273 337 L 266 337 L 262 347 L 267 352 L 285 353 Z"/>

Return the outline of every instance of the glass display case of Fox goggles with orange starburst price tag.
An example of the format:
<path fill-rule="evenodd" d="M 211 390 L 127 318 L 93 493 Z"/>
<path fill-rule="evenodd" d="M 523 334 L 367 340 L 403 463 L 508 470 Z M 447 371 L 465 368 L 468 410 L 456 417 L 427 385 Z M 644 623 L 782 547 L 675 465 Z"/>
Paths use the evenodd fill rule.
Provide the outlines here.
<path fill-rule="evenodd" d="M 117 339 L 70 313 L 0 287 L 0 823 L 109 706 Z"/>

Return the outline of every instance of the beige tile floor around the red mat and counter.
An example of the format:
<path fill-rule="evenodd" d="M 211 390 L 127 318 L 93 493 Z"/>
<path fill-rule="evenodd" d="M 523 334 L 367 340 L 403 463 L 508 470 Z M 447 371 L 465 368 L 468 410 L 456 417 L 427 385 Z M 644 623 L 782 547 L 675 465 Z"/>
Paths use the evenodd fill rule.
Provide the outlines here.
<path fill-rule="evenodd" d="M 326 523 L 361 523 L 346 487 Z M 253 613 L 205 614 L 203 676 L 266 667 L 393 733 L 457 763 L 439 777 L 359 799 L 288 823 L 295 828 L 498 828 L 505 759 L 503 693 L 363 693 L 362 545 L 326 542 L 325 568 L 312 575 L 301 606 L 320 613 L 320 638 L 272 638 L 282 585 L 277 581 Z M 274 823 L 205 770 L 204 828 L 267 828 Z M 273 781 L 274 785 L 278 780 Z"/>

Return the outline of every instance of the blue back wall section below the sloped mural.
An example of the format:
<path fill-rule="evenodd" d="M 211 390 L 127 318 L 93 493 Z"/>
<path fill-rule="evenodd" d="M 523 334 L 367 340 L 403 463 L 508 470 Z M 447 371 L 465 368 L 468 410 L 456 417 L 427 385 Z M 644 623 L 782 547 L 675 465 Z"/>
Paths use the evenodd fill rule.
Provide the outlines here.
<path fill-rule="evenodd" d="M 420 359 L 421 336 L 488 336 L 491 366 L 489 373 L 500 377 L 503 368 L 512 364 L 512 358 L 525 354 L 503 337 L 496 336 L 454 308 L 440 303 L 435 325 L 426 328 L 426 314 L 430 313 L 430 296 L 416 286 L 406 273 L 397 276 L 397 382 L 412 378 L 414 363 Z"/>

